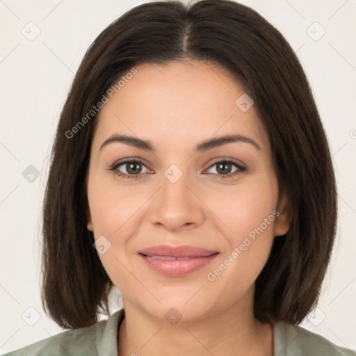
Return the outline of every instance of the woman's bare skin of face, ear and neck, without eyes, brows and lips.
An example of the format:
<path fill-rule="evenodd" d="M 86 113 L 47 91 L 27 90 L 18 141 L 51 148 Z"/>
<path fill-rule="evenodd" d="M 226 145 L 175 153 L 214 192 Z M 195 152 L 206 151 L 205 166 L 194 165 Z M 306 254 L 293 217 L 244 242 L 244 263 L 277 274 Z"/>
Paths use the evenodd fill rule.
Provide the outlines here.
<path fill-rule="evenodd" d="M 104 235 L 111 242 L 99 258 L 123 296 L 118 355 L 273 355 L 272 327 L 253 315 L 254 282 L 274 236 L 289 229 L 290 207 L 278 188 L 266 129 L 254 106 L 246 112 L 236 106 L 245 90 L 217 65 L 186 60 L 136 69 L 99 113 L 87 177 L 88 229 L 95 239 Z M 156 152 L 124 143 L 99 150 L 113 133 L 150 140 Z M 234 142 L 194 152 L 202 140 L 233 133 L 252 138 L 261 149 Z M 143 161 L 140 177 L 109 170 L 133 157 Z M 223 158 L 246 170 L 222 178 L 213 163 Z M 175 183 L 164 175 L 172 164 L 183 174 Z M 132 175 L 128 166 L 116 170 Z M 228 168 L 230 175 L 238 170 Z M 275 210 L 280 215 L 209 281 L 207 274 Z M 137 254 L 160 244 L 220 253 L 190 275 L 167 277 Z M 181 314 L 174 325 L 165 318 L 172 307 Z"/>

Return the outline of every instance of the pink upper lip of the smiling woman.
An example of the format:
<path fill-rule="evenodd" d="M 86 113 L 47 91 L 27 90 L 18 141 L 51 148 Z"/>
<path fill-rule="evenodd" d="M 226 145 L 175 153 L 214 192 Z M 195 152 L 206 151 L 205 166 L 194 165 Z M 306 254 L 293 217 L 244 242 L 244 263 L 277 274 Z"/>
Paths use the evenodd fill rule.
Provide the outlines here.
<path fill-rule="evenodd" d="M 191 245 L 156 245 L 150 248 L 139 250 L 138 253 L 146 254 L 149 256 L 165 256 L 165 257 L 202 257 L 211 256 L 218 251 L 207 250 L 205 248 L 198 248 Z"/>

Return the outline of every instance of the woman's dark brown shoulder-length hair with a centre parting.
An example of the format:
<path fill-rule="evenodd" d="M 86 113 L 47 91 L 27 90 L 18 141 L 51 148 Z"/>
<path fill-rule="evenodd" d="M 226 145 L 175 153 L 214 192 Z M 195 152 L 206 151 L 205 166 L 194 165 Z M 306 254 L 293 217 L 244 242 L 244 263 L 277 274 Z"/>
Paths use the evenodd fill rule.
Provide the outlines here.
<path fill-rule="evenodd" d="M 275 237 L 256 281 L 254 316 L 298 324 L 316 305 L 334 243 L 336 184 L 298 58 L 266 19 L 235 1 L 190 6 L 156 1 L 124 13 L 90 45 L 60 115 L 44 196 L 42 246 L 42 305 L 60 327 L 97 323 L 99 309 L 108 314 L 113 286 L 86 228 L 85 182 L 97 115 L 74 137 L 67 133 L 134 65 L 189 58 L 224 67 L 254 99 L 280 188 L 291 201 L 291 228 Z"/>

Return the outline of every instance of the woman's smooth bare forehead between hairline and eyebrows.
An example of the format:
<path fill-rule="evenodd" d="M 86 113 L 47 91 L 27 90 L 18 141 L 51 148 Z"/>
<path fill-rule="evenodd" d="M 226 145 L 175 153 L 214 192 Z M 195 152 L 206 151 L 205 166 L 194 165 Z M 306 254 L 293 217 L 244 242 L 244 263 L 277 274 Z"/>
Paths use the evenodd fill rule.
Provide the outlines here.
<path fill-rule="evenodd" d="M 268 145 L 254 106 L 243 112 L 236 105 L 243 86 L 222 67 L 183 60 L 135 68 L 100 111 L 96 145 L 113 133 L 154 140 L 162 149 L 232 133 Z"/>

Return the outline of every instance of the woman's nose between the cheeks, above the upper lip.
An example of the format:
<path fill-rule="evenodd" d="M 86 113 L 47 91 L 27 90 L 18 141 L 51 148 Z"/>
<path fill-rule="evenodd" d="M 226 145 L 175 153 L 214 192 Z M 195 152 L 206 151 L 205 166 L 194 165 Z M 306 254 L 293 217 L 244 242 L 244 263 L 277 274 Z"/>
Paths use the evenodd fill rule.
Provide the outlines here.
<path fill-rule="evenodd" d="M 167 176 L 169 177 L 169 176 Z M 204 221 L 204 204 L 188 174 L 177 181 L 163 175 L 162 187 L 152 201 L 151 223 L 168 231 L 192 229 Z"/>

